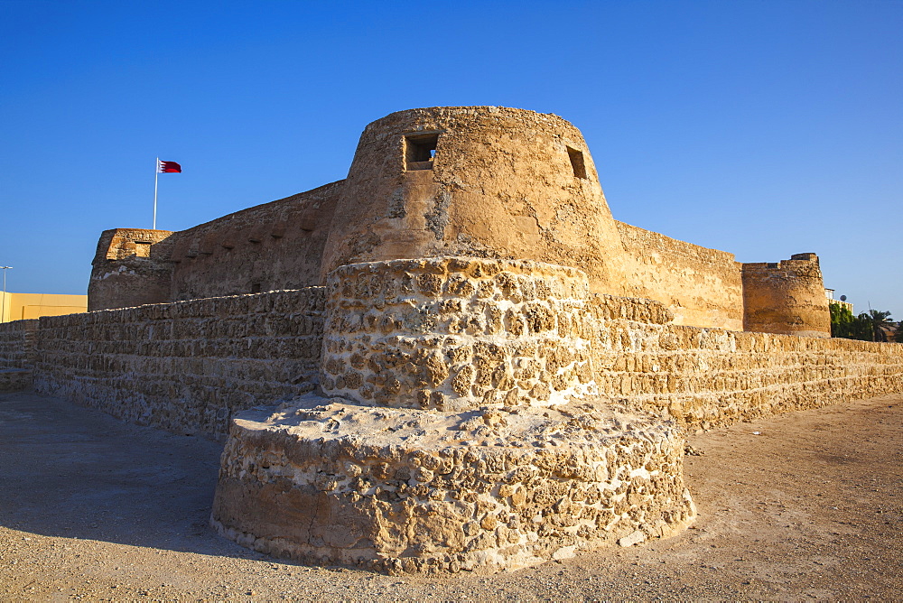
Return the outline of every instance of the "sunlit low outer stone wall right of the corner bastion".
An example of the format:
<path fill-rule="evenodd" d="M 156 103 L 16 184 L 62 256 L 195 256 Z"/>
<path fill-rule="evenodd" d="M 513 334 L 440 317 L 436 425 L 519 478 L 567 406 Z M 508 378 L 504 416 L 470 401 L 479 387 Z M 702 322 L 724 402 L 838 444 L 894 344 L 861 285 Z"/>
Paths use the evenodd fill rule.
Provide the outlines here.
<path fill-rule="evenodd" d="M 596 324 L 600 394 L 691 431 L 903 392 L 903 344 L 624 319 Z"/>

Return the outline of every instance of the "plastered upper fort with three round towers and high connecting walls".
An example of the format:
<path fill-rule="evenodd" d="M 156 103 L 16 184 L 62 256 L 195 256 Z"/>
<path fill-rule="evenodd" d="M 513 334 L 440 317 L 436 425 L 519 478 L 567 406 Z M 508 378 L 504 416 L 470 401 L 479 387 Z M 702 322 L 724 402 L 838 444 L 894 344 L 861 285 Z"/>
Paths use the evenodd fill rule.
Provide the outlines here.
<path fill-rule="evenodd" d="M 809 255 L 776 272 L 617 222 L 586 142 L 561 117 L 429 107 L 368 125 L 343 181 L 180 232 L 105 231 L 89 308 L 322 285 L 361 262 L 474 256 L 579 268 L 591 292 L 662 302 L 678 325 L 822 337 L 828 306 L 815 256 L 800 259 Z"/>

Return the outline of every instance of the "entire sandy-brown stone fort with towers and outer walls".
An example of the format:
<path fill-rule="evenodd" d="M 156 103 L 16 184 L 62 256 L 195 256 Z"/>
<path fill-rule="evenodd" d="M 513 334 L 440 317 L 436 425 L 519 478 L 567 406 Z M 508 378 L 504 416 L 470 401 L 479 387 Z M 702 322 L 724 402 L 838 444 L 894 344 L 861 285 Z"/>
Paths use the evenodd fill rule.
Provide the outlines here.
<path fill-rule="evenodd" d="M 220 533 L 377 571 L 675 533 L 685 430 L 903 391 L 900 344 L 830 339 L 815 254 L 618 222 L 573 125 L 501 107 L 395 113 L 343 181 L 107 230 L 88 310 L 3 325 L 10 386 L 225 438 Z"/>

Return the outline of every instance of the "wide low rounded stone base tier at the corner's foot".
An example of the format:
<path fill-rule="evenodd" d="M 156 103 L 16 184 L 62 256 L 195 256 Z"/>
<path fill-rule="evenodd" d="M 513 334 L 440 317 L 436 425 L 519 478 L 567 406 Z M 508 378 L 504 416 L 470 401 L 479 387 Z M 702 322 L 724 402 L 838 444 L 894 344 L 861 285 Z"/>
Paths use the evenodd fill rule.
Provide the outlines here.
<path fill-rule="evenodd" d="M 462 413 L 308 394 L 237 415 L 211 523 L 275 556 L 498 571 L 694 520 L 672 422 L 591 399 Z"/>

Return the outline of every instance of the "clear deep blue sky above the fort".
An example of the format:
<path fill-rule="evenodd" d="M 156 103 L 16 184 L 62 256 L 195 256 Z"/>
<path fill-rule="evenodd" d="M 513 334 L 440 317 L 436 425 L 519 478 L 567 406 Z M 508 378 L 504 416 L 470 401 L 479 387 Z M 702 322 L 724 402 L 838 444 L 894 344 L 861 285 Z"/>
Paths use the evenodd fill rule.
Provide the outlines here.
<path fill-rule="evenodd" d="M 0 0 L 0 265 L 83 293 L 101 230 L 343 178 L 393 111 L 582 130 L 615 218 L 742 262 L 814 251 L 903 319 L 903 2 Z"/>

